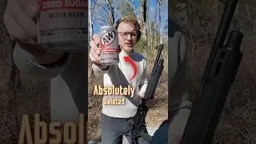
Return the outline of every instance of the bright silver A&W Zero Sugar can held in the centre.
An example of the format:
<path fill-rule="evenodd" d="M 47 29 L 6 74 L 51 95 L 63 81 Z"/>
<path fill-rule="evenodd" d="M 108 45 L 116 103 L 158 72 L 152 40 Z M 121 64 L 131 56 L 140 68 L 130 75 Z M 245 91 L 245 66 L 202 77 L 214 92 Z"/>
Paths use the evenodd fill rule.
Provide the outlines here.
<path fill-rule="evenodd" d="M 119 62 L 118 31 L 112 26 L 102 26 L 99 32 L 102 65 L 114 65 Z"/>

